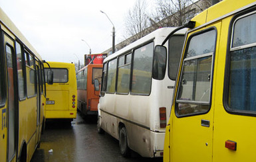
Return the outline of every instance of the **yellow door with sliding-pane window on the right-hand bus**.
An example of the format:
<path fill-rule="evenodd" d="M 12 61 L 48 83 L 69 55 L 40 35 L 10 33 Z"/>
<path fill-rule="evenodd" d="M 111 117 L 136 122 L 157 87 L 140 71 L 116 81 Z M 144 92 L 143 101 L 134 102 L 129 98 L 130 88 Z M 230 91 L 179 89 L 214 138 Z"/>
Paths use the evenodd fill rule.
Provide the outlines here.
<path fill-rule="evenodd" d="M 170 126 L 172 161 L 212 161 L 213 63 L 221 22 L 188 34 Z"/>

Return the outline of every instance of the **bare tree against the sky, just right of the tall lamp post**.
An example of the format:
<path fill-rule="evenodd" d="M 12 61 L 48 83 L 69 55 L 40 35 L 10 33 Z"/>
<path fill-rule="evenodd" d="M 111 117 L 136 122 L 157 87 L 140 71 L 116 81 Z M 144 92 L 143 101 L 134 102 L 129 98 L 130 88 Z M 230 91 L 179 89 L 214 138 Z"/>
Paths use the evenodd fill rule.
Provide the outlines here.
<path fill-rule="evenodd" d="M 125 37 L 135 36 L 136 38 L 134 40 L 138 40 L 145 35 L 145 29 L 150 25 L 146 8 L 147 4 L 145 0 L 137 0 L 134 7 L 128 11 L 125 19 Z"/>

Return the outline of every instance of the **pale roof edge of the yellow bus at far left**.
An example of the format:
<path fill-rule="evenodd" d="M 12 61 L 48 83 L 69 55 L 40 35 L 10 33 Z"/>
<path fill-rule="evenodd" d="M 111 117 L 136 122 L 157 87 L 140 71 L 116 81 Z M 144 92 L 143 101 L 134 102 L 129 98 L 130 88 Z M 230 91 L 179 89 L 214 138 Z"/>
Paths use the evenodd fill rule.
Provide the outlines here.
<path fill-rule="evenodd" d="M 15 35 L 23 44 L 35 54 L 35 56 L 42 60 L 41 56 L 37 53 L 35 48 L 29 43 L 29 41 L 25 38 L 25 36 L 19 31 L 19 29 L 15 26 L 15 24 L 9 19 L 9 17 L 5 14 L 5 12 L 0 7 L 0 22 L 2 26 L 5 26 L 11 34 Z"/>

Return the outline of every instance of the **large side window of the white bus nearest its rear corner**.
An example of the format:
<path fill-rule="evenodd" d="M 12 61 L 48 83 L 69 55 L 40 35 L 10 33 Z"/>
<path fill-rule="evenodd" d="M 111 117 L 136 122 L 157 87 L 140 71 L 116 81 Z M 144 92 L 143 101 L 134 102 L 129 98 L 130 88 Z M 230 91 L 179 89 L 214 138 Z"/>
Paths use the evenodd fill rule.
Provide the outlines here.
<path fill-rule="evenodd" d="M 132 93 L 149 95 L 151 90 L 154 43 L 134 51 Z"/>

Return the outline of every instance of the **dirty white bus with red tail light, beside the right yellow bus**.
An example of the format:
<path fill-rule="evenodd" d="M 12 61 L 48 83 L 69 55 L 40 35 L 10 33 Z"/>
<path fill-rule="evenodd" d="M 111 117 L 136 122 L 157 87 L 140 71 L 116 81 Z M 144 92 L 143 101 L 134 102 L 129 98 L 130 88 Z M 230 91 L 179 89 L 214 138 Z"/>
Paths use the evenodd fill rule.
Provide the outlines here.
<path fill-rule="evenodd" d="M 119 140 L 120 153 L 162 157 L 186 29 L 160 28 L 108 56 L 102 69 L 98 132 Z M 168 112 L 168 113 L 167 113 Z"/>

